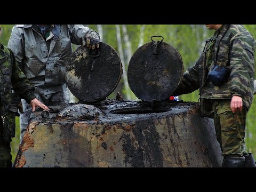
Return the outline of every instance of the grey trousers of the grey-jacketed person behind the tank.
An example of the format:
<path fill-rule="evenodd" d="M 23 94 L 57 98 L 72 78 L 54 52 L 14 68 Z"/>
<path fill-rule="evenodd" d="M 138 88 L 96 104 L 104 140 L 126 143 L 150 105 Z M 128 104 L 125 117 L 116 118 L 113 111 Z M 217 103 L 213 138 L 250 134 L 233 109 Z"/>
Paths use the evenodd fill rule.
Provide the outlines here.
<path fill-rule="evenodd" d="M 35 94 L 36 98 L 44 103 L 46 106 L 61 106 L 69 102 L 69 92 L 68 89 L 62 90 L 57 93 L 52 93 L 48 95 Z M 30 115 L 32 113 L 32 108 L 29 103 L 21 99 L 23 114 L 20 114 L 20 143 L 23 139 L 23 135 L 27 130 Z"/>

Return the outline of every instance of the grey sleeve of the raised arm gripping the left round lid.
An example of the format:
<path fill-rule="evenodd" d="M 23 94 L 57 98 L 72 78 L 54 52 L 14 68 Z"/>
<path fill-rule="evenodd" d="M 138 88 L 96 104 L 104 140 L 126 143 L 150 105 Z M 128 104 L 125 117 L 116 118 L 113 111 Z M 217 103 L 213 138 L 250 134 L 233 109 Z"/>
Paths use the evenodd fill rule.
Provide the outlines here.
<path fill-rule="evenodd" d="M 71 36 L 71 42 L 76 45 L 82 45 L 85 35 L 93 31 L 92 29 L 84 27 L 83 25 L 68 25 L 68 28 Z"/>

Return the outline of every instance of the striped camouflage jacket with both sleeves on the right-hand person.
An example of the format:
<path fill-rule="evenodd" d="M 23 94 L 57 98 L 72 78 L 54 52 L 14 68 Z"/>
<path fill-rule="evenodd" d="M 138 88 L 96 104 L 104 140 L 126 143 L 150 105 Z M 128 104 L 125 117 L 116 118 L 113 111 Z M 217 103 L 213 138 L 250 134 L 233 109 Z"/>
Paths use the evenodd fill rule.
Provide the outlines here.
<path fill-rule="evenodd" d="M 199 89 L 201 112 L 205 110 L 203 100 L 231 99 L 237 95 L 242 97 L 243 105 L 249 110 L 253 99 L 254 46 L 253 37 L 243 26 L 222 25 L 213 37 L 206 40 L 203 53 L 195 65 L 183 74 L 173 95 Z M 227 81 L 220 86 L 215 86 L 207 78 L 214 65 L 226 67 L 230 71 Z M 210 111 L 204 113 L 209 114 Z"/>

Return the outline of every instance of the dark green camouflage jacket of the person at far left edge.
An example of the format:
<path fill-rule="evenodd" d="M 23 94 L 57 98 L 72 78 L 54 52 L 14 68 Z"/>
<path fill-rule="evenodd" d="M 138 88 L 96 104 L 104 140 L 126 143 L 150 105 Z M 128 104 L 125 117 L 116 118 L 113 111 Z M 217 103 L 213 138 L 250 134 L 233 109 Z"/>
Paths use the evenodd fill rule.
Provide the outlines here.
<path fill-rule="evenodd" d="M 15 136 L 15 113 L 17 106 L 12 105 L 12 89 L 28 103 L 35 97 L 27 77 L 17 65 L 12 51 L 0 44 L 0 137 L 10 141 Z"/>

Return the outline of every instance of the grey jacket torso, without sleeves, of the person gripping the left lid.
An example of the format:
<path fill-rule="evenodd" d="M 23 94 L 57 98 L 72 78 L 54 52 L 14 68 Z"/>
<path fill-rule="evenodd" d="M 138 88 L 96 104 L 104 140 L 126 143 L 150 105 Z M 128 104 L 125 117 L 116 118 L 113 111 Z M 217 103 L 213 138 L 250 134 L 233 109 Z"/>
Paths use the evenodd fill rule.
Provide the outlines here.
<path fill-rule="evenodd" d="M 50 94 L 65 84 L 65 61 L 72 54 L 67 25 L 54 29 L 47 36 L 36 26 L 22 28 L 25 59 L 23 72 L 35 86 L 35 93 Z M 47 47 L 48 46 L 48 47 Z"/>

